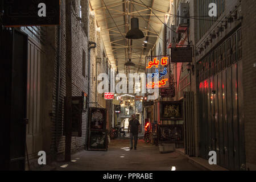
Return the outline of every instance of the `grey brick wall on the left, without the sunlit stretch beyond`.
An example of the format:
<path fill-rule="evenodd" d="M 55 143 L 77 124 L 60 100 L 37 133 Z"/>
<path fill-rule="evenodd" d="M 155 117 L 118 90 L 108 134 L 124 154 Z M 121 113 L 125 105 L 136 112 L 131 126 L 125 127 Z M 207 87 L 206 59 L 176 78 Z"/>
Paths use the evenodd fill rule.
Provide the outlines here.
<path fill-rule="evenodd" d="M 79 3 L 72 6 L 72 96 L 81 96 L 81 92 L 88 93 L 88 38 L 82 28 L 79 18 Z M 75 9 L 74 9 L 75 8 Z M 64 97 L 65 97 L 65 1 L 61 3 L 61 70 L 60 70 L 60 105 L 59 117 L 56 117 L 57 106 L 57 63 L 58 55 L 55 55 L 55 76 L 53 78 L 53 116 L 52 116 L 52 141 L 51 154 L 56 156 L 53 159 L 63 159 L 65 152 L 65 137 L 63 136 Z M 86 16 L 84 16 L 86 17 Z M 55 48 L 58 48 L 58 34 L 55 34 Z M 86 60 L 82 60 L 82 52 L 85 52 Z M 85 61 L 85 77 L 82 75 L 82 61 Z M 82 113 L 82 137 L 72 137 L 72 153 L 83 150 L 86 146 L 87 135 L 87 114 Z"/>

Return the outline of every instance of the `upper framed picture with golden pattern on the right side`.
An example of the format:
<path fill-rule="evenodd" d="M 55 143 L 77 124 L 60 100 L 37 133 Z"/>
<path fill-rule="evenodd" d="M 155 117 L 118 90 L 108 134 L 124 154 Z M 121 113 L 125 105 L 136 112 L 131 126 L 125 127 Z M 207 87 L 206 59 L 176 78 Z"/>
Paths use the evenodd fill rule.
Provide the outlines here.
<path fill-rule="evenodd" d="M 183 120 L 183 101 L 160 102 L 160 120 Z"/>

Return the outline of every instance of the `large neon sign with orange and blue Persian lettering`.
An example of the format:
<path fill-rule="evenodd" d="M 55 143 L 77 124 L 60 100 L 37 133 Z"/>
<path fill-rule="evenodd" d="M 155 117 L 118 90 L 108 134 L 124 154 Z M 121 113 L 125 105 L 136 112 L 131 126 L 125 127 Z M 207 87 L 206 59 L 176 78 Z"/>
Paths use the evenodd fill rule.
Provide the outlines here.
<path fill-rule="evenodd" d="M 170 56 L 148 56 L 145 59 L 147 88 L 168 88 L 170 86 Z M 158 78 L 156 82 L 155 77 Z"/>

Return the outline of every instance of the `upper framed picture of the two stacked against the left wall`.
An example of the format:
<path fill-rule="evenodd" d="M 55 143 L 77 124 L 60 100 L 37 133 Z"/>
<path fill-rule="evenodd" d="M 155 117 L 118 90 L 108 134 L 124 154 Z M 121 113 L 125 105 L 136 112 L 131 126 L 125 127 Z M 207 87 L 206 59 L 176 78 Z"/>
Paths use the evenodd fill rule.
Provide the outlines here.
<path fill-rule="evenodd" d="M 90 130 L 106 130 L 106 109 L 90 107 Z"/>

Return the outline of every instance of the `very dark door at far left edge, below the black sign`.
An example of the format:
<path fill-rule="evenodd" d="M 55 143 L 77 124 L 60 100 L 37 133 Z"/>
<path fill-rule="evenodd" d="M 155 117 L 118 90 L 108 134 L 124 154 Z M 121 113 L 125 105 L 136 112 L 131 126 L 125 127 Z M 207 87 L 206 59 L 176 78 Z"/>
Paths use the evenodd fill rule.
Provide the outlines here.
<path fill-rule="evenodd" d="M 12 29 L 2 33 L 1 150 L 3 170 L 24 170 L 26 154 L 27 35 Z"/>

